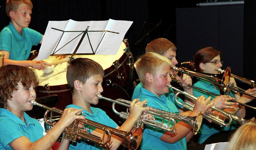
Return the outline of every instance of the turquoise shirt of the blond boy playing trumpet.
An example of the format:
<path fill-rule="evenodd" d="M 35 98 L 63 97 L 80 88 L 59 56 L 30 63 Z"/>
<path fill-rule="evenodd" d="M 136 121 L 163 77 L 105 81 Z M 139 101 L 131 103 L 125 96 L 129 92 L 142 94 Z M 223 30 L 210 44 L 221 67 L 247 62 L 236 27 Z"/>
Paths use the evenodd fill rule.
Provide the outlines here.
<path fill-rule="evenodd" d="M 140 95 L 138 96 L 140 101 L 147 99 L 147 106 L 153 107 L 155 109 L 160 109 L 163 111 L 168 111 L 171 113 L 179 114 L 176 105 L 171 99 L 162 95 L 161 98 L 157 97 L 150 91 L 140 88 Z M 155 117 L 156 120 L 162 122 L 161 118 Z M 178 122 L 179 120 L 176 120 Z M 166 122 L 164 122 L 167 124 Z M 178 142 L 172 144 L 160 140 L 161 136 L 166 131 L 154 128 L 149 125 L 145 125 L 143 129 L 142 142 L 140 143 L 140 150 L 186 150 L 186 138 L 182 138 Z"/>

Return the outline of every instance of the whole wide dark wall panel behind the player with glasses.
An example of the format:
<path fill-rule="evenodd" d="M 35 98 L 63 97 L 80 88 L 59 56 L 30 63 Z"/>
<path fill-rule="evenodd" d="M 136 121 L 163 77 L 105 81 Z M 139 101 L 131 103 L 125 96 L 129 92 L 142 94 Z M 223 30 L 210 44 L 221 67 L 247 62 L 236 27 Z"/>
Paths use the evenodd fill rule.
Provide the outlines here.
<path fill-rule="evenodd" d="M 221 51 L 223 69 L 243 75 L 244 6 L 178 8 L 176 10 L 177 57 L 193 60 L 199 49 L 212 46 Z"/>

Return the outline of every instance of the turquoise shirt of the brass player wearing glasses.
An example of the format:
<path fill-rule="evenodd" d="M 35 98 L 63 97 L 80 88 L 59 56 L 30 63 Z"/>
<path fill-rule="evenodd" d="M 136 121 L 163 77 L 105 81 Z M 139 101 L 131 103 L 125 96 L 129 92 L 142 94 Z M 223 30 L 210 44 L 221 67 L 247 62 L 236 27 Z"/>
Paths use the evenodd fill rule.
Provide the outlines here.
<path fill-rule="evenodd" d="M 194 83 L 195 87 L 198 87 L 200 89 L 207 89 L 207 91 L 211 93 L 215 93 L 217 95 L 220 95 L 220 89 L 215 89 L 213 83 L 210 83 L 208 81 L 198 79 L 198 82 Z M 206 93 L 204 91 L 200 91 L 198 89 L 193 89 L 193 93 L 195 97 L 200 97 L 201 95 L 204 95 L 204 97 L 208 98 L 209 96 L 214 99 L 216 96 L 212 95 L 210 93 Z M 234 97 L 233 93 L 229 91 L 229 95 L 231 97 Z M 235 121 L 232 121 L 232 123 L 226 127 L 217 124 L 213 124 L 208 122 L 207 120 L 203 119 L 202 125 L 200 127 L 200 130 L 196 136 L 198 137 L 198 143 L 202 144 L 207 138 L 209 138 L 211 135 L 221 132 L 221 131 L 228 131 L 228 130 L 234 130 L 238 128 L 238 124 Z"/>

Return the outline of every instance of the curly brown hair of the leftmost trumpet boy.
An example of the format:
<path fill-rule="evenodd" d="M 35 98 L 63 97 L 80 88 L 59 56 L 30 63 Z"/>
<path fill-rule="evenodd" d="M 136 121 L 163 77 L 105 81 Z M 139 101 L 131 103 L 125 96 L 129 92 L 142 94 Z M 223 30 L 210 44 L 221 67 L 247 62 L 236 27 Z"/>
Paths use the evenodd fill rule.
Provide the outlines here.
<path fill-rule="evenodd" d="M 24 87 L 38 86 L 38 78 L 34 70 L 19 65 L 5 65 L 0 67 L 0 107 L 3 108 L 7 100 L 12 99 L 13 91 L 18 90 L 18 83 Z"/>

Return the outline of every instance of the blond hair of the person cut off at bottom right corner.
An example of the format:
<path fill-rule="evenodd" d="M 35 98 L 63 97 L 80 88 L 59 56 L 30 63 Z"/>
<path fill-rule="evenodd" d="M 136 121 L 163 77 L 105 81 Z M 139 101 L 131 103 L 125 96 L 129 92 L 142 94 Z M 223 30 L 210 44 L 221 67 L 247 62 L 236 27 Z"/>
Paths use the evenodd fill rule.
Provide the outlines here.
<path fill-rule="evenodd" d="M 255 139 L 256 122 L 243 124 L 231 136 L 228 150 L 255 150 Z"/>

